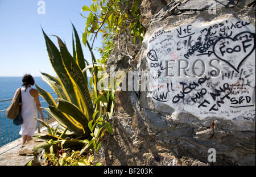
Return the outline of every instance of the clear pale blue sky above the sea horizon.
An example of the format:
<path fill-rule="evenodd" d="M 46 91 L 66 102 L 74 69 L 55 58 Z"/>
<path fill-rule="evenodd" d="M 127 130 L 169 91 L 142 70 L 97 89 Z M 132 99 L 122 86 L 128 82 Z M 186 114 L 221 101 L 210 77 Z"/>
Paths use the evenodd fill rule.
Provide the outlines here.
<path fill-rule="evenodd" d="M 24 74 L 38 77 L 41 76 L 40 72 L 56 76 L 49 61 L 42 28 L 57 47 L 56 37 L 50 35 L 59 36 L 71 54 L 71 22 L 81 39 L 86 18 L 80 13 L 89 15 L 88 11 L 81 9 L 82 6 L 90 7 L 92 0 L 43 2 L 45 6 L 38 0 L 0 0 L 0 77 L 22 77 Z M 93 48 L 101 47 L 101 41 L 98 36 Z M 92 41 L 89 43 L 92 44 Z M 85 59 L 92 63 L 88 48 L 82 41 L 81 45 Z M 94 50 L 94 55 L 96 59 L 100 58 L 97 50 Z"/>

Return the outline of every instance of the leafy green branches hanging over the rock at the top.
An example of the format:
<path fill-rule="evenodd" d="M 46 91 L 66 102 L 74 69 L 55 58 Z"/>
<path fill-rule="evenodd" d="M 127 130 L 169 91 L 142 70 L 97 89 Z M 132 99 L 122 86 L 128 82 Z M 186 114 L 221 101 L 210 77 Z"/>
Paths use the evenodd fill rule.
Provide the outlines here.
<path fill-rule="evenodd" d="M 98 32 L 102 33 L 103 47 L 99 48 L 101 61 L 106 65 L 109 54 L 114 48 L 114 38 L 121 33 L 132 36 L 135 44 L 138 38 L 141 43 L 146 29 L 142 26 L 138 9 L 139 0 L 94 0 L 90 7 L 82 7 L 83 11 L 90 11 L 86 18 L 85 32 L 82 41 L 86 45 L 88 37 L 97 37 Z M 83 16 L 83 15 L 82 15 Z M 94 35 L 94 36 L 93 36 Z"/>

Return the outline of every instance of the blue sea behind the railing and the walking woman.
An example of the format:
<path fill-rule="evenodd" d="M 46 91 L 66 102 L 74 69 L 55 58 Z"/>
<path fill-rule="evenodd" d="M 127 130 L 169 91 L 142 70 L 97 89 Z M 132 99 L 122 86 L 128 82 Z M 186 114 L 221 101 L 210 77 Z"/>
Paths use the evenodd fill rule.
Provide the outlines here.
<path fill-rule="evenodd" d="M 89 79 L 88 77 L 88 81 Z M 51 93 L 53 98 L 56 98 L 55 92 L 41 77 L 34 77 L 34 80 L 36 85 Z M 0 147 L 20 137 L 18 134 L 20 125 L 14 125 L 13 120 L 8 119 L 5 115 L 6 111 L 4 111 L 10 106 L 11 100 L 9 99 L 13 99 L 15 91 L 19 87 L 22 87 L 22 77 L 0 77 Z M 35 88 L 35 85 L 32 88 Z M 40 102 L 44 101 L 42 96 L 39 96 L 39 100 Z M 42 107 L 47 106 L 42 104 Z"/>

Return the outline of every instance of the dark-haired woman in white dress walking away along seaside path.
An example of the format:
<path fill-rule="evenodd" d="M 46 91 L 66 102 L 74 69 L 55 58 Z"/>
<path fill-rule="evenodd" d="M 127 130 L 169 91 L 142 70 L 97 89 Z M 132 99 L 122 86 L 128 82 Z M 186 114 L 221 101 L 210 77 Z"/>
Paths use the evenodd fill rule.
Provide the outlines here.
<path fill-rule="evenodd" d="M 41 115 L 41 119 L 44 119 L 42 109 L 40 108 L 41 104 L 39 102 L 38 91 L 31 87 L 35 84 L 34 78 L 30 74 L 26 74 L 22 78 L 22 82 L 22 86 L 24 86 L 21 89 L 23 124 L 19 132 L 22 136 L 20 149 L 26 141 L 32 140 L 36 128 L 36 119 L 34 119 L 34 117 L 38 118 L 38 111 Z"/>

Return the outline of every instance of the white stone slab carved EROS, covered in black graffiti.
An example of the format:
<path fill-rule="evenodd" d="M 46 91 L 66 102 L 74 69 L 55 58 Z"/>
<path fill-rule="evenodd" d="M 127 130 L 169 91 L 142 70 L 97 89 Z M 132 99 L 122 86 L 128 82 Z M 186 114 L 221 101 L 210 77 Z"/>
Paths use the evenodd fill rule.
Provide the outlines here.
<path fill-rule="evenodd" d="M 155 102 L 203 118 L 255 120 L 255 27 L 249 20 L 160 29 L 149 39 L 147 60 Z"/>

